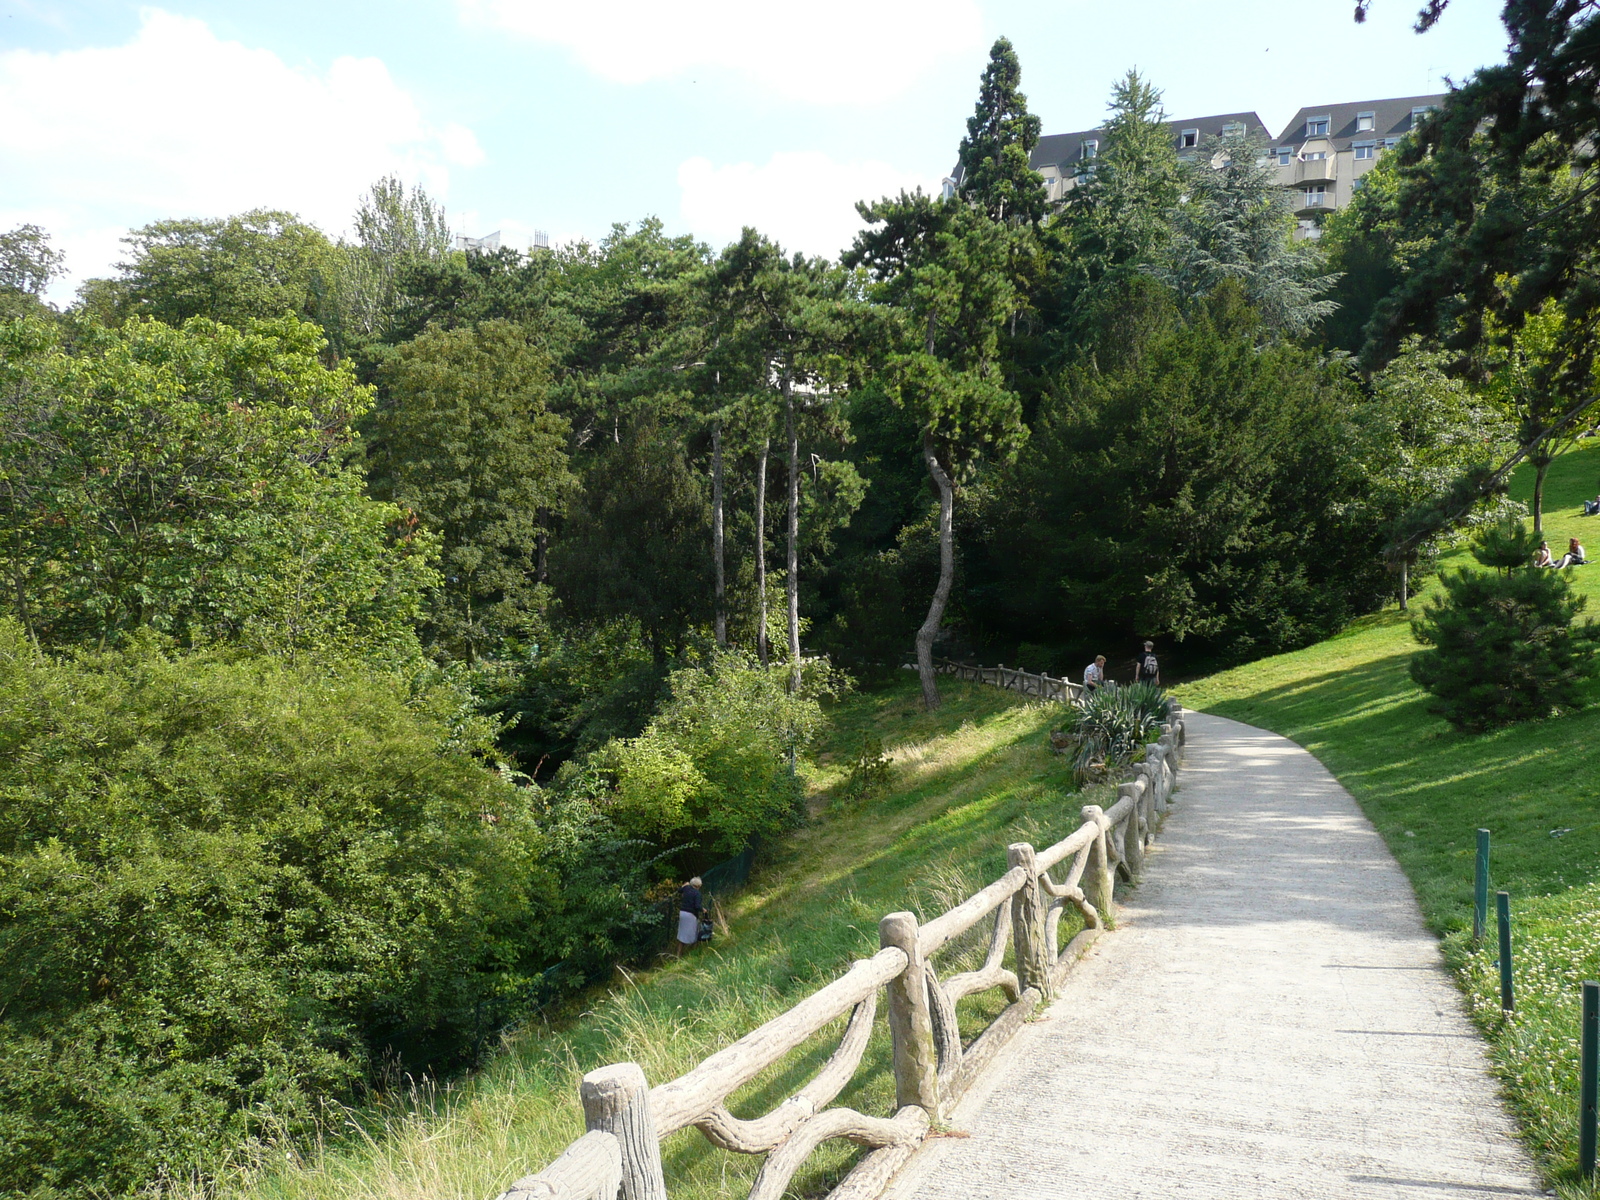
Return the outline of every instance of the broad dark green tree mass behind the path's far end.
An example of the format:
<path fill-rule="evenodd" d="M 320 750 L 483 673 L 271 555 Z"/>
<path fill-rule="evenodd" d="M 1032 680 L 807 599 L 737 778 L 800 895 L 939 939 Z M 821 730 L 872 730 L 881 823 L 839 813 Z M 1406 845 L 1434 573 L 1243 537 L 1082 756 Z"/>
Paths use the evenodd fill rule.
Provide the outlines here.
<path fill-rule="evenodd" d="M 1141 336 L 1115 370 L 1066 373 L 997 480 L 979 619 L 1082 653 L 1170 635 L 1245 656 L 1333 632 L 1384 589 L 1358 390 L 1262 347 L 1238 285 L 1187 322 L 1162 291 L 1130 285 Z"/>

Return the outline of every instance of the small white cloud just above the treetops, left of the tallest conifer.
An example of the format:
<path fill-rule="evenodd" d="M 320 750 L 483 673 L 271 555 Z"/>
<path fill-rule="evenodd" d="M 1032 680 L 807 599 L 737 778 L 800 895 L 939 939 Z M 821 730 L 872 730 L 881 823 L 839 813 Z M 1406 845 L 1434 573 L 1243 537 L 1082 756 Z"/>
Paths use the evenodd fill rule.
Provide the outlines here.
<path fill-rule="evenodd" d="M 877 200 L 936 179 L 883 162 L 840 163 L 819 150 L 774 154 L 766 163 L 714 166 L 690 158 L 678 166 L 683 219 L 714 246 L 754 226 L 784 250 L 837 258 L 864 226 L 858 200 Z"/>

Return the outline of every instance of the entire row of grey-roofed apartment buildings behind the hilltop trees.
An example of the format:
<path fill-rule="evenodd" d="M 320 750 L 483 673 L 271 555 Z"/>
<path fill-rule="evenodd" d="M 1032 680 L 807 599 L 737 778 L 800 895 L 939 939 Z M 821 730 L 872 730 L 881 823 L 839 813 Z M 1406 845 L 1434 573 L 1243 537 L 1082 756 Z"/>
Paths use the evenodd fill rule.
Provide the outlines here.
<path fill-rule="evenodd" d="M 1222 112 L 1166 122 L 1179 158 L 1192 158 L 1208 138 L 1243 130 L 1267 144 L 1269 162 L 1278 182 L 1290 190 L 1298 222 L 1296 237 L 1317 237 L 1328 213 L 1350 203 L 1378 157 L 1410 133 L 1422 114 L 1437 107 L 1443 94 L 1402 96 L 1350 104 L 1323 104 L 1301 109 L 1277 138 L 1254 112 Z M 1106 130 L 1053 133 L 1038 139 L 1029 162 L 1045 176 L 1051 200 L 1061 200 L 1077 186 L 1078 174 L 1106 144 Z M 962 186 L 962 168 L 944 181 L 944 194 Z"/>

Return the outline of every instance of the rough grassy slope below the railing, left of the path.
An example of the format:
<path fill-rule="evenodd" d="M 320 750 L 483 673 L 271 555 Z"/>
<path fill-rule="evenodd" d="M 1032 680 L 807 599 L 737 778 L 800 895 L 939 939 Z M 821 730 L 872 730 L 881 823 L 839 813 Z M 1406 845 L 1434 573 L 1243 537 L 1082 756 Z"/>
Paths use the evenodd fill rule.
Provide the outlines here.
<path fill-rule="evenodd" d="M 874 954 L 883 914 L 936 915 L 1003 874 L 1010 842 L 1048 845 L 1074 829 L 1083 798 L 1069 794 L 1069 773 L 1046 750 L 1050 709 L 974 685 L 947 683 L 944 693 L 936 714 L 922 710 L 914 680 L 837 707 L 813 770 L 814 819 L 731 901 L 730 930 L 709 949 L 595 995 L 565 1027 L 522 1032 L 466 1086 L 397 1094 L 354 1114 L 350 1131 L 320 1152 L 267 1155 L 219 1190 L 258 1200 L 494 1195 L 582 1131 L 584 1070 L 634 1059 L 651 1080 L 672 1078 Z M 894 758 L 893 786 L 877 798 L 832 800 L 864 730 Z M 1072 923 L 1062 925 L 1070 936 Z M 994 994 L 962 1002 L 968 1032 L 994 1002 Z M 746 1088 L 734 1112 L 758 1115 L 790 1094 L 838 1029 Z M 867 1061 L 840 1099 L 875 1114 L 893 1107 L 882 1013 Z M 826 1190 L 851 1154 L 838 1142 L 824 1147 L 795 1187 Z M 667 1141 L 666 1158 L 675 1194 L 694 1197 L 742 1197 L 760 1166 L 714 1150 L 693 1130 Z"/>

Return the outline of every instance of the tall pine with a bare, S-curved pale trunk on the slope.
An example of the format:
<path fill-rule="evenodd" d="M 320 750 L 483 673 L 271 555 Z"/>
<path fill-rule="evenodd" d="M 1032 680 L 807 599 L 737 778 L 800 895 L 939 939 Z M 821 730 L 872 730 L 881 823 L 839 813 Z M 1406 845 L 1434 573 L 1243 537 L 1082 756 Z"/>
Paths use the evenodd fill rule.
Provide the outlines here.
<path fill-rule="evenodd" d="M 955 579 L 955 490 L 966 466 L 1002 461 L 1026 434 L 1021 405 L 997 363 L 1000 330 L 1016 309 L 1008 272 L 1016 230 L 963 200 L 922 192 L 856 206 L 872 229 L 846 262 L 870 272 L 882 309 L 877 355 L 894 403 L 915 416 L 922 459 L 939 498 L 939 582 L 917 630 L 923 704 L 939 707 L 933 643 Z"/>

